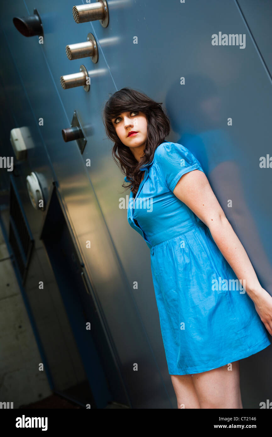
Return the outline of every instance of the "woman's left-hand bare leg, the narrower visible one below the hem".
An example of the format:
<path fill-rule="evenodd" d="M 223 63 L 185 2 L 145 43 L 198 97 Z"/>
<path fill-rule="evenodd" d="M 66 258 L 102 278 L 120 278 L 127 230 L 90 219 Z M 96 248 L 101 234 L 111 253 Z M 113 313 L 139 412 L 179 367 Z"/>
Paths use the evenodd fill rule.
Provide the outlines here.
<path fill-rule="evenodd" d="M 170 375 L 175 394 L 177 396 L 178 408 L 200 408 L 199 400 L 195 392 L 191 375 Z"/>

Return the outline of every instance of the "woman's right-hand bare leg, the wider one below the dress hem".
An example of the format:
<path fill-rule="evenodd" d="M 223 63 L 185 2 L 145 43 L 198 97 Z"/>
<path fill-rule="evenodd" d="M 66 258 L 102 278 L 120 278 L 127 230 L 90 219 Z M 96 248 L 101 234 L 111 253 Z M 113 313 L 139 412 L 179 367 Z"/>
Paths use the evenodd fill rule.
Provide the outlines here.
<path fill-rule="evenodd" d="M 232 370 L 230 370 L 232 369 Z M 200 408 L 242 409 L 240 362 L 192 375 Z"/>

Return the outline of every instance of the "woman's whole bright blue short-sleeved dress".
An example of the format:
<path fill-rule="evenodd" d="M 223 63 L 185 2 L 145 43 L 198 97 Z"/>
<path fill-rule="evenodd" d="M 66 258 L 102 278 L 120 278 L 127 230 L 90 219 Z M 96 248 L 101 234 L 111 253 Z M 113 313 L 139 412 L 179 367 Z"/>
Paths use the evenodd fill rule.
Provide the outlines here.
<path fill-rule="evenodd" d="M 243 283 L 209 228 L 173 194 L 183 174 L 203 171 L 199 161 L 181 144 L 164 142 L 141 170 L 128 222 L 150 248 L 169 374 L 208 371 L 265 349 L 269 333 Z"/>

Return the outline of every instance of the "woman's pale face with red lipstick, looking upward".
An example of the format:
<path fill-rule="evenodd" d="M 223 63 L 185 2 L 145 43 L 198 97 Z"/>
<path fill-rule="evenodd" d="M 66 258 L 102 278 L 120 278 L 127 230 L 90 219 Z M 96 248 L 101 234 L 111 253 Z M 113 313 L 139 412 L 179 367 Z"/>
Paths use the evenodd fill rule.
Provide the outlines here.
<path fill-rule="evenodd" d="M 125 146 L 144 149 L 147 138 L 146 115 L 141 111 L 122 112 L 118 117 L 112 118 L 116 134 Z M 130 132 L 137 132 L 129 135 Z"/>

